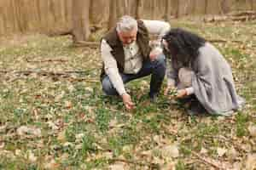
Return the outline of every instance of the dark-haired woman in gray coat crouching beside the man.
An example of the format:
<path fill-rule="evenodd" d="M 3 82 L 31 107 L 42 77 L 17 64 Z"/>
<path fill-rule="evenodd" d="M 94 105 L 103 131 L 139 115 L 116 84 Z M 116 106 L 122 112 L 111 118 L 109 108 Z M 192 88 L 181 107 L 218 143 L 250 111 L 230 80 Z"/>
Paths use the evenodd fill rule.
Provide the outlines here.
<path fill-rule="evenodd" d="M 236 94 L 230 65 L 211 43 L 189 31 L 172 29 L 163 37 L 167 56 L 167 88 L 177 87 L 177 98 L 195 99 L 190 113 L 202 110 L 230 116 L 243 105 Z"/>

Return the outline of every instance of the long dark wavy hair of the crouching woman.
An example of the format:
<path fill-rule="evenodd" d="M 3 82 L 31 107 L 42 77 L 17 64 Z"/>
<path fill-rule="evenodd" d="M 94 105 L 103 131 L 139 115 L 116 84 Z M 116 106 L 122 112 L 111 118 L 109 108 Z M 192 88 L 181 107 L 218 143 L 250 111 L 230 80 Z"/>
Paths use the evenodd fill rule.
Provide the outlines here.
<path fill-rule="evenodd" d="M 192 32 L 180 28 L 173 28 L 163 37 L 168 43 L 172 60 L 189 66 L 198 56 L 198 49 L 206 42 L 203 37 L 199 37 Z"/>

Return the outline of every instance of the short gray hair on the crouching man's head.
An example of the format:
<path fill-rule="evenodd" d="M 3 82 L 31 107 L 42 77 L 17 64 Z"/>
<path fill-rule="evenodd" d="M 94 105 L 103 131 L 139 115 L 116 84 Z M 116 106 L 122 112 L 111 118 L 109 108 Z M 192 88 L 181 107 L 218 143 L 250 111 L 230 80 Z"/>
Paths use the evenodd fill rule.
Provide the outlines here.
<path fill-rule="evenodd" d="M 118 32 L 127 32 L 137 30 L 137 20 L 129 15 L 122 16 L 117 22 L 116 30 Z"/>

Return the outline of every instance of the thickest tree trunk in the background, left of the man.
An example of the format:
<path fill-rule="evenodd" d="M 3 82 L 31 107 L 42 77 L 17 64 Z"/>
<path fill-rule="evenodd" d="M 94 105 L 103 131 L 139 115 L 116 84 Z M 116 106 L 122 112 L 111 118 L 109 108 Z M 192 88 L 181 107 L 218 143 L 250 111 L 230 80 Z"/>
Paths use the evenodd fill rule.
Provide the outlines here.
<path fill-rule="evenodd" d="M 87 41 L 90 37 L 90 0 L 73 1 L 73 42 Z"/>

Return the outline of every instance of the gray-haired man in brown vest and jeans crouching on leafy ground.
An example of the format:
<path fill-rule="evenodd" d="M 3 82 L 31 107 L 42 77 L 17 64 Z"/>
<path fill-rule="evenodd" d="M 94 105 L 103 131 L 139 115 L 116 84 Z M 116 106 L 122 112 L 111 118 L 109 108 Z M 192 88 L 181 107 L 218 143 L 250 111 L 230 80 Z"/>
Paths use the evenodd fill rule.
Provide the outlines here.
<path fill-rule="evenodd" d="M 159 47 L 149 47 L 149 35 L 161 37 L 170 30 L 170 25 L 158 20 L 135 20 L 125 15 L 116 27 L 102 38 L 103 60 L 102 89 L 105 94 L 119 95 L 125 108 L 134 107 L 125 83 L 151 75 L 149 97 L 156 99 L 166 73 L 165 56 Z"/>

